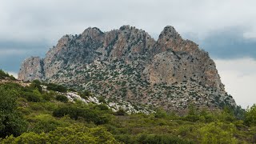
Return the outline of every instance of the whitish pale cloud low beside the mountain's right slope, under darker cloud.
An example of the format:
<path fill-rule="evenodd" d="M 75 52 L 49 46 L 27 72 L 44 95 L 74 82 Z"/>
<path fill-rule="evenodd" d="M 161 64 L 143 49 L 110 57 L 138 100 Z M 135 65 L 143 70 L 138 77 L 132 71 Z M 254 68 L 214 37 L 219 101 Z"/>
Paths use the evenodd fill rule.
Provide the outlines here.
<path fill-rule="evenodd" d="M 256 103 L 256 61 L 252 58 L 215 60 L 226 91 L 243 108 Z"/>

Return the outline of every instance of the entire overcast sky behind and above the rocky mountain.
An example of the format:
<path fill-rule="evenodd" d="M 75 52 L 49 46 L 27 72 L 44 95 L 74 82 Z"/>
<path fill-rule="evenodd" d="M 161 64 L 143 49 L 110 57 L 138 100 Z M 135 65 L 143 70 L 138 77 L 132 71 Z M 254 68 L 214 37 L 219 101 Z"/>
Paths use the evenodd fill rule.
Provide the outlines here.
<path fill-rule="evenodd" d="M 255 0 L 1 0 L 0 69 L 17 75 L 31 55 L 45 56 L 64 34 L 86 27 L 122 25 L 154 38 L 171 25 L 197 42 L 217 64 L 226 90 L 238 105 L 256 103 Z"/>

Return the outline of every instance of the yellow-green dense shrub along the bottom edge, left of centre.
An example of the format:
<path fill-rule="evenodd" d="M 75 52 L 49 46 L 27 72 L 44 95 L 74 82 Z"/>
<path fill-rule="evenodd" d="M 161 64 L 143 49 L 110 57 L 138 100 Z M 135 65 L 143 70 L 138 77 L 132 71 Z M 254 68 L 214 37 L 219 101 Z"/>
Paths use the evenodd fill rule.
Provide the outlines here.
<path fill-rule="evenodd" d="M 14 138 L 10 136 L 2 140 L 2 143 L 119 143 L 112 134 L 102 127 L 87 128 L 74 125 L 59 127 L 48 134 L 24 133 Z"/>

